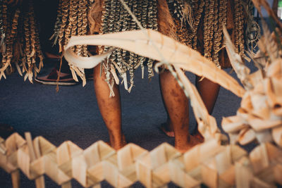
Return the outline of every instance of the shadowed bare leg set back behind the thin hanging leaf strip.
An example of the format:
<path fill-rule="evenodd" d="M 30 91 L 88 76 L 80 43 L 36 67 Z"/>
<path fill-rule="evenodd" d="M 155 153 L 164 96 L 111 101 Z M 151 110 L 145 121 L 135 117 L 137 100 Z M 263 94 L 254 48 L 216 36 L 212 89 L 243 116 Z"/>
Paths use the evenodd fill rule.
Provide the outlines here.
<path fill-rule="evenodd" d="M 217 96 L 219 95 L 220 85 L 208 80 L 207 78 L 200 81 L 200 77 L 196 76 L 196 87 L 202 97 L 202 100 L 204 101 L 207 111 L 209 114 L 212 114 Z M 203 139 L 200 132 L 198 132 L 197 127 L 195 128 L 194 134 L 198 139 Z"/>

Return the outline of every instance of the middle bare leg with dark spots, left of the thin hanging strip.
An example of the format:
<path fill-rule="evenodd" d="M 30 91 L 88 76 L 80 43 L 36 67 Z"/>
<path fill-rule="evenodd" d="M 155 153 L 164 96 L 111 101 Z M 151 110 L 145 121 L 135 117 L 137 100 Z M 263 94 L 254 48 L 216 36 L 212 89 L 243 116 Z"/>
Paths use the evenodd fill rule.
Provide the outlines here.
<path fill-rule="evenodd" d="M 185 152 L 195 144 L 198 144 L 194 137 L 189 134 L 189 104 L 183 89 L 173 75 L 165 70 L 160 75 L 161 92 L 164 97 L 171 125 L 175 134 L 175 147 Z"/>

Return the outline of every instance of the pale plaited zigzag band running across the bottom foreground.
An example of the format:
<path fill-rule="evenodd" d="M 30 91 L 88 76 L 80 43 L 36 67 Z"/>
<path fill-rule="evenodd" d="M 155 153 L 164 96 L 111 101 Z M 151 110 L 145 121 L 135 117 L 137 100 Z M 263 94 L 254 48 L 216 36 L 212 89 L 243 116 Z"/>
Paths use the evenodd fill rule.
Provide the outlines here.
<path fill-rule="evenodd" d="M 102 141 L 83 150 L 69 141 L 56 147 L 43 137 L 28 142 L 14 133 L 6 140 L 0 138 L 0 148 L 0 168 L 7 173 L 21 170 L 30 180 L 47 175 L 62 187 L 71 187 L 71 180 L 82 187 L 97 187 L 103 180 L 114 187 L 129 187 L 137 181 L 145 187 L 163 187 L 169 182 L 180 187 L 271 187 L 282 183 L 282 151 L 269 143 L 250 154 L 214 139 L 186 153 L 169 144 L 152 151 L 127 144 L 115 151 Z M 16 182 L 20 179 L 14 176 L 14 185 Z"/>

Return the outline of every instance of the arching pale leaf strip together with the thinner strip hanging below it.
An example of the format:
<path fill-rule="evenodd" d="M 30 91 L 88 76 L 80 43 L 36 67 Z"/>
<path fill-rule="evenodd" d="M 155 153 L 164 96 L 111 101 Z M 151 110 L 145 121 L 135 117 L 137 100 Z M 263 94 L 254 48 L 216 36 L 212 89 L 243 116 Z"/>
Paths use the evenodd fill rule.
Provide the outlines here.
<path fill-rule="evenodd" d="M 151 42 L 147 42 L 148 38 L 146 35 L 149 36 Z M 180 82 L 180 86 L 185 89 L 185 94 L 190 97 L 199 124 L 199 130 L 204 135 L 205 139 L 223 138 L 216 126 L 215 119 L 207 112 L 200 95 L 197 93 L 197 89 L 192 86 L 181 69 L 207 77 L 209 80 L 221 84 L 238 96 L 242 96 L 245 92 L 238 82 L 233 80 L 233 78 L 223 70 L 216 68 L 214 63 L 201 56 L 199 52 L 192 50 L 188 46 L 180 44 L 169 37 L 161 35 L 159 32 L 154 32 L 153 30 L 119 32 L 87 37 L 71 37 L 64 54 L 66 60 L 80 68 L 92 68 L 99 64 L 102 58 L 111 56 L 111 52 L 115 49 L 111 49 L 111 51 L 108 51 L 106 54 L 101 54 L 99 56 L 83 58 L 76 56 L 70 50 L 72 46 L 78 44 L 115 46 L 127 51 L 132 51 L 140 56 L 160 61 L 161 63 L 155 65 L 156 69 L 159 65 L 167 66 L 178 79 L 178 82 Z M 175 70 L 170 68 L 171 65 L 173 65 Z"/>

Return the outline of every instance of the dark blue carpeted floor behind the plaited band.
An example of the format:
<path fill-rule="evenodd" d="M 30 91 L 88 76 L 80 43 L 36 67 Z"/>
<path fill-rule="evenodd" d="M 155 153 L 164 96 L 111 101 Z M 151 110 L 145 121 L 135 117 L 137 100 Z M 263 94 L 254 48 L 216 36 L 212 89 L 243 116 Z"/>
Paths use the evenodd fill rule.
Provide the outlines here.
<path fill-rule="evenodd" d="M 51 66 L 43 70 L 43 74 Z M 252 68 L 253 69 L 253 68 Z M 226 70 L 230 72 L 231 70 Z M 232 73 L 234 76 L 235 73 Z M 195 76 L 188 73 L 192 82 Z M 135 87 L 130 94 L 121 85 L 121 103 L 123 111 L 123 131 L 127 142 L 137 144 L 144 149 L 152 150 L 162 142 L 173 144 L 173 139 L 159 130 L 161 123 L 166 121 L 166 112 L 161 101 L 159 78 L 141 79 L 141 72 L 135 73 Z M 214 108 L 214 117 L 218 125 L 222 117 L 235 115 L 240 106 L 240 99 L 221 88 Z M 108 141 L 97 101 L 95 99 L 93 81 L 87 81 L 73 87 L 31 84 L 24 82 L 18 73 L 8 75 L 0 81 L 0 123 L 13 126 L 20 134 L 31 132 L 32 137 L 39 135 L 59 146 L 71 140 L 82 149 L 102 139 Z M 190 111 L 190 129 L 195 126 L 195 118 Z M 35 187 L 33 181 L 22 177 L 22 187 Z M 48 178 L 47 187 L 56 187 Z M 106 182 L 103 187 L 109 187 Z M 11 187 L 11 177 L 0 170 L 0 188 Z M 80 185 L 73 181 L 73 187 Z M 135 187 L 140 187 L 136 184 Z"/>

